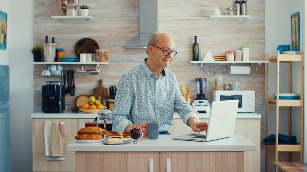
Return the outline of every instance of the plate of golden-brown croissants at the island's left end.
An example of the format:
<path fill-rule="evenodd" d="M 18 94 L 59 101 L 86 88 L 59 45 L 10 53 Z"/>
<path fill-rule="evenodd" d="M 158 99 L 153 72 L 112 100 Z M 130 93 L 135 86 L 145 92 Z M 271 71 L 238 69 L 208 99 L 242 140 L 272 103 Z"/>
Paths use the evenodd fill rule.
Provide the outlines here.
<path fill-rule="evenodd" d="M 105 130 L 100 127 L 86 127 L 79 129 L 75 139 L 80 143 L 102 142 Z"/>

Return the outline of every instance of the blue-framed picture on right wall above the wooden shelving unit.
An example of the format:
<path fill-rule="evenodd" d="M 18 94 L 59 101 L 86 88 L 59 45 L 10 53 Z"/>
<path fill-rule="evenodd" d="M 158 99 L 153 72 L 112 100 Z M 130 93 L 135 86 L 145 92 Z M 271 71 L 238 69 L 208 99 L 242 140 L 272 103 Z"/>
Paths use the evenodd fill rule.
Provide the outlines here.
<path fill-rule="evenodd" d="M 300 51 L 300 13 L 291 15 L 291 43 L 292 51 Z"/>

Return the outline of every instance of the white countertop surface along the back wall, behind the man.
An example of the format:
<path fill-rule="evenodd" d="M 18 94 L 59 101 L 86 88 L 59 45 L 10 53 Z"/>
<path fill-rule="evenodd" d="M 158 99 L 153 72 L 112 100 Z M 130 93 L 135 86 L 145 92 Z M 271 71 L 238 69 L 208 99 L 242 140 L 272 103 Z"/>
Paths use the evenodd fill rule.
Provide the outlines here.
<path fill-rule="evenodd" d="M 200 119 L 209 119 L 209 113 L 198 113 Z M 73 112 L 63 112 L 63 113 L 44 113 L 38 112 L 31 114 L 31 118 L 96 118 L 97 113 L 73 113 Z M 261 119 L 261 115 L 258 113 L 237 113 L 237 119 Z M 180 116 L 175 112 L 174 119 L 180 119 Z"/>

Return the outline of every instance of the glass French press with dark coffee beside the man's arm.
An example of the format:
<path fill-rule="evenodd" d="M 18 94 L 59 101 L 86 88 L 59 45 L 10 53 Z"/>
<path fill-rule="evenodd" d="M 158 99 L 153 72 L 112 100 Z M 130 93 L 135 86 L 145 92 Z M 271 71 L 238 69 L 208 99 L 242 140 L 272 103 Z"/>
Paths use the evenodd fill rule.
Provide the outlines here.
<path fill-rule="evenodd" d="M 104 107 L 97 113 L 97 127 L 105 129 L 105 131 L 112 131 L 112 111 Z"/>

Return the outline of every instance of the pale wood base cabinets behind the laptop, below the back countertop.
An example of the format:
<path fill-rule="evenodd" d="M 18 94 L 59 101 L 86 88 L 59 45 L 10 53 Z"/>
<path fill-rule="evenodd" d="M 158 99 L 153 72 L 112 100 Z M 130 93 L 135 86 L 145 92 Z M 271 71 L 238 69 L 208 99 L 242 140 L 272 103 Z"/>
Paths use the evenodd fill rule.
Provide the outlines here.
<path fill-rule="evenodd" d="M 246 114 L 248 115 L 248 113 Z M 239 115 L 237 115 L 239 116 Z M 235 123 L 235 134 L 241 134 L 256 144 L 256 151 L 245 152 L 244 171 L 260 172 L 260 118 L 259 119 L 238 119 Z M 200 119 L 201 122 L 207 122 L 208 119 Z M 191 128 L 182 122 L 182 119 L 174 119 L 174 125 L 169 128 L 169 132 L 174 135 L 191 133 Z"/>

